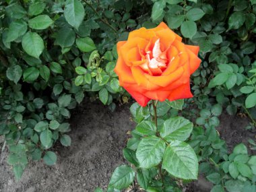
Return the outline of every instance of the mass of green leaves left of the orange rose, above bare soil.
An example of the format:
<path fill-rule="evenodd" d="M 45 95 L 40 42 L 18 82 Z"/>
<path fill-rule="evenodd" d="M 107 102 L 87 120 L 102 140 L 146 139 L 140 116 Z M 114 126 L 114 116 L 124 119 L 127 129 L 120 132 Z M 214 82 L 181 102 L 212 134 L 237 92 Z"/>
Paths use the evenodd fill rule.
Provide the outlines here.
<path fill-rule="evenodd" d="M 122 99 L 120 92 L 121 101 L 127 102 L 128 94 L 113 69 L 117 29 L 122 33 L 135 23 L 121 22 L 131 8 L 119 5 L 121 12 L 114 22 L 114 18 L 101 18 L 106 2 L 98 15 L 96 7 L 78 0 L 3 1 L 0 5 L 0 135 L 5 136 L 8 148 L 22 143 L 18 154 L 10 152 L 16 157 L 9 164 L 17 179 L 30 159 L 55 164 L 57 156 L 48 150 L 58 140 L 63 146 L 71 145 L 66 121 L 86 92 L 111 110 L 115 110 L 113 100 Z"/>

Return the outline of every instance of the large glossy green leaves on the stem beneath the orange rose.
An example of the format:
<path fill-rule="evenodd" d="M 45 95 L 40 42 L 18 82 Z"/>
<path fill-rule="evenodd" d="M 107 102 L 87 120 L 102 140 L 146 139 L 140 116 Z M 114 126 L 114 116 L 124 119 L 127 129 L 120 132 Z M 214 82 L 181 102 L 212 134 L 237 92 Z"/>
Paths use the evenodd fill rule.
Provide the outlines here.
<path fill-rule="evenodd" d="M 183 108 L 183 100 L 158 102 L 156 114 L 152 114 L 151 107 L 142 108 L 137 103 L 131 106 L 138 125 L 131 131 L 132 137 L 123 156 L 133 169 L 119 166 L 113 172 L 108 190 L 125 189 L 134 179 L 146 191 L 179 190 L 179 179 L 197 179 L 197 155 L 185 142 L 191 135 L 193 124 L 183 117 L 170 118 L 169 112 L 176 110 L 170 104 L 174 108 Z"/>

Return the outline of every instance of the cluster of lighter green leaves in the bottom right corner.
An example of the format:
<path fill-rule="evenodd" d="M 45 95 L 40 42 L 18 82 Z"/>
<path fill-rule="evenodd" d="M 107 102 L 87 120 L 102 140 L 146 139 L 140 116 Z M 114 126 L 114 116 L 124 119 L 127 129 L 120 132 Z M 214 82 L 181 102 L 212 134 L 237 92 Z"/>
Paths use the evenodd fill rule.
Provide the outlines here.
<path fill-rule="evenodd" d="M 229 156 L 225 154 L 220 160 L 212 160 L 213 164 L 203 162 L 199 169 L 208 181 L 214 183 L 212 191 L 255 191 L 254 159 L 255 156 L 250 157 L 246 146 L 241 143 Z"/>

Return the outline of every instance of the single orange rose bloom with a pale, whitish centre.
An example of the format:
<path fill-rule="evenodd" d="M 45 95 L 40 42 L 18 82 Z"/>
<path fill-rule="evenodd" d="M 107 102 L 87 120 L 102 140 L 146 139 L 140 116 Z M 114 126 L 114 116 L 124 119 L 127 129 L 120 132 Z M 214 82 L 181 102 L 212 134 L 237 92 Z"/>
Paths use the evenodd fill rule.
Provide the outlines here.
<path fill-rule="evenodd" d="M 189 77 L 199 67 L 199 46 L 181 42 L 164 22 L 152 29 L 129 33 L 117 43 L 115 72 L 123 86 L 141 105 L 151 100 L 191 98 Z"/>

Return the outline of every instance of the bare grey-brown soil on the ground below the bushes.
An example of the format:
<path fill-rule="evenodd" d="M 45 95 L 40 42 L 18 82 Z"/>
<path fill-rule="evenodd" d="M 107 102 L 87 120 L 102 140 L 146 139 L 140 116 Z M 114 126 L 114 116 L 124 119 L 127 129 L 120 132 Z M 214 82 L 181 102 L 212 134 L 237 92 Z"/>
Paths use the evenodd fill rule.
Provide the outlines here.
<path fill-rule="evenodd" d="M 53 149 L 58 156 L 55 166 L 43 162 L 30 163 L 22 179 L 15 182 L 10 166 L 6 163 L 7 150 L 0 152 L 0 191 L 40 192 L 40 191 L 88 191 L 96 187 L 106 189 L 115 168 L 125 164 L 123 148 L 127 131 L 134 129 L 130 120 L 129 105 L 118 106 L 110 113 L 106 106 L 98 102 L 84 102 L 71 117 L 72 143 L 68 148 L 60 144 Z M 255 133 L 245 131 L 248 119 L 222 115 L 218 128 L 232 150 L 237 143 L 247 143 L 255 138 Z M 0 139 L 0 149 L 3 141 Z M 188 186 L 187 191 L 210 191 L 211 185 L 201 178 Z"/>

